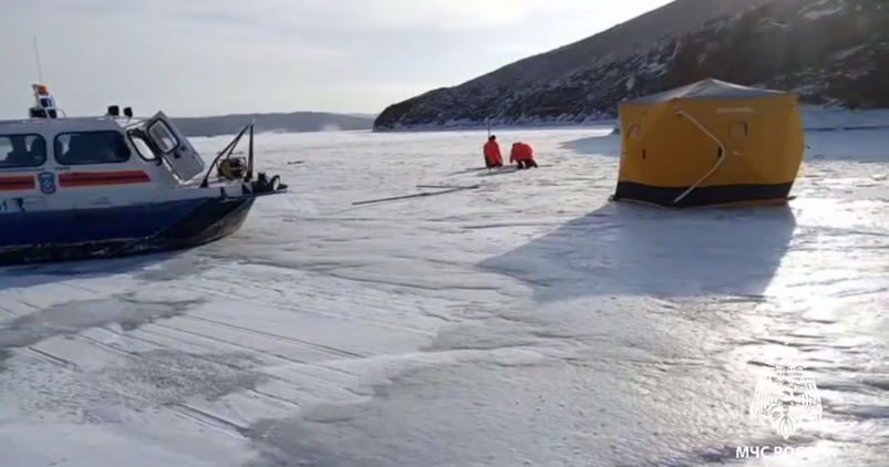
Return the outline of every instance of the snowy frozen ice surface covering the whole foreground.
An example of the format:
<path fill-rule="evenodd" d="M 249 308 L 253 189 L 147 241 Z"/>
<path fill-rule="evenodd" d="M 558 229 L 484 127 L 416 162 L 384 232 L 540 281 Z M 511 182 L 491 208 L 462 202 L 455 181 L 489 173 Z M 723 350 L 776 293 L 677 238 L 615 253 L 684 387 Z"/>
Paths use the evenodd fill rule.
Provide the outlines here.
<path fill-rule="evenodd" d="M 606 203 L 609 127 L 496 133 L 546 167 L 467 170 L 478 131 L 261 135 L 293 193 L 231 238 L 3 270 L 0 466 L 889 463 L 888 131 L 810 133 L 788 209 L 680 212 Z M 747 416 L 773 364 L 821 390 L 788 442 Z"/>

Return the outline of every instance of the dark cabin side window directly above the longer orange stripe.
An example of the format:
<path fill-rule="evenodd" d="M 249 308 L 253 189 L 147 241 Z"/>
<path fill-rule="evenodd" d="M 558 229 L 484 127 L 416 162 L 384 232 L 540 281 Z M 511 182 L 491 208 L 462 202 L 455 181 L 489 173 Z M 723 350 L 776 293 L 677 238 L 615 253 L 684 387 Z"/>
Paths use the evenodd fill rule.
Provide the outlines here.
<path fill-rule="evenodd" d="M 61 165 L 121 164 L 132 152 L 120 132 L 62 133 L 55 136 L 55 160 Z"/>

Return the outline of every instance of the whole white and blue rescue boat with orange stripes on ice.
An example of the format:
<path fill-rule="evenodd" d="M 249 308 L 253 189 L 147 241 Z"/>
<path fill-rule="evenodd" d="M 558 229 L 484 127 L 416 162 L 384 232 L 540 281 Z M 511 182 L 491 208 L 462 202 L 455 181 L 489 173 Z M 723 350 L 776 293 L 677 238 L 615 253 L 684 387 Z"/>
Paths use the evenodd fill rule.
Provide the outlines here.
<path fill-rule="evenodd" d="M 46 86 L 33 91 L 28 118 L 0 121 L 0 266 L 197 247 L 237 231 L 257 198 L 287 191 L 254 175 L 254 122 L 207 168 L 163 112 L 68 117 Z M 247 157 L 234 157 L 245 134 Z"/>

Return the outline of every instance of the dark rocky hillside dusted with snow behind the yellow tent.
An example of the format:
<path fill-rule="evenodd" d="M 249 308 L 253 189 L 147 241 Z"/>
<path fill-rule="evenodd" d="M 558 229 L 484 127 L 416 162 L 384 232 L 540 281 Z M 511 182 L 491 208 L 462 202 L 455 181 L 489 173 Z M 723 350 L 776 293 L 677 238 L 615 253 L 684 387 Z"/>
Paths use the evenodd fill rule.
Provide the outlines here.
<path fill-rule="evenodd" d="M 676 0 L 580 42 L 393 104 L 374 129 L 580 123 L 705 77 L 889 107 L 889 0 Z"/>

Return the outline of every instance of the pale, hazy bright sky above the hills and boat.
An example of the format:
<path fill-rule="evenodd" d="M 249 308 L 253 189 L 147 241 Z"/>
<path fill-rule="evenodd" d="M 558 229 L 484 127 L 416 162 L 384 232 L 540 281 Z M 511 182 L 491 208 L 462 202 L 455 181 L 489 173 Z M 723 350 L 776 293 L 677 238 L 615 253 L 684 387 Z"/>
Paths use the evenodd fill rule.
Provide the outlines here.
<path fill-rule="evenodd" d="M 0 118 L 38 81 L 70 115 L 363 112 L 669 0 L 0 0 Z"/>

